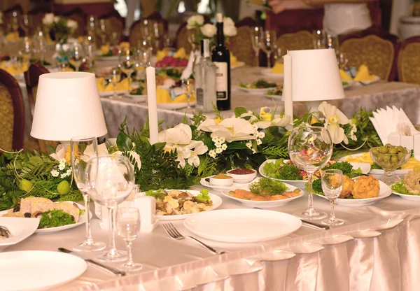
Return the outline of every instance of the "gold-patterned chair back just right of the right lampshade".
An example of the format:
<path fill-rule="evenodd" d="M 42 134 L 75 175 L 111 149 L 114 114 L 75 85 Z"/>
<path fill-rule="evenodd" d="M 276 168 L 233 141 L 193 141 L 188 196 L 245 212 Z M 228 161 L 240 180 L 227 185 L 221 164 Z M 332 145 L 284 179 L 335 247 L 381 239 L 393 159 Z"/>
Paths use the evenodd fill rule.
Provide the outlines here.
<path fill-rule="evenodd" d="M 367 38 L 367 36 L 377 36 L 377 38 Z M 355 41 L 357 39 L 359 41 Z M 348 41 L 351 41 L 351 44 L 348 43 Z M 346 58 L 349 59 L 350 65 L 357 66 L 358 62 L 365 59 L 365 62 L 371 62 L 370 64 L 367 64 L 370 68 L 377 67 L 378 71 L 374 71 L 373 73 L 380 76 L 381 79 L 389 81 L 395 80 L 397 75 L 398 50 L 400 48 L 398 36 L 383 31 L 381 27 L 373 26 L 363 31 L 344 34 L 343 36 L 340 36 L 339 43 L 340 50 L 344 55 L 347 54 Z M 361 44 L 362 46 L 358 46 L 357 49 L 354 47 L 355 43 Z M 391 50 L 387 49 L 390 45 L 393 46 L 392 55 L 390 55 Z M 359 51 L 356 52 L 356 50 Z M 368 50 L 370 52 L 368 52 Z M 363 57 L 363 55 L 365 55 L 365 57 Z M 352 57 L 353 60 L 351 59 Z M 359 60 L 357 61 L 356 59 Z M 377 61 L 375 62 L 374 59 Z M 391 64 L 390 69 L 388 68 L 389 64 Z"/>

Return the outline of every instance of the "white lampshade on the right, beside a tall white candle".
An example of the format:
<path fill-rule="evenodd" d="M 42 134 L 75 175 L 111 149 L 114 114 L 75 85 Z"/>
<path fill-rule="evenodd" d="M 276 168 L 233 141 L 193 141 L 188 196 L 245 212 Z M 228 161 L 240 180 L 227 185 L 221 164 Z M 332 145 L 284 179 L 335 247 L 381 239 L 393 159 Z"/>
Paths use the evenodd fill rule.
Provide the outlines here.
<path fill-rule="evenodd" d="M 344 98 L 335 50 L 292 50 L 293 101 Z"/>

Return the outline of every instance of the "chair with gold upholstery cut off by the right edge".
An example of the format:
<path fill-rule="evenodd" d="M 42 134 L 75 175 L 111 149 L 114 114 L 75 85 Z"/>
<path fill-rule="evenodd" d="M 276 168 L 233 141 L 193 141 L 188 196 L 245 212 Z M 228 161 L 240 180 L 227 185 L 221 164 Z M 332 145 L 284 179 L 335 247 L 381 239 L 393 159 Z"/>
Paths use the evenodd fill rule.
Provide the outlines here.
<path fill-rule="evenodd" d="M 420 85 L 420 36 L 407 38 L 398 53 L 398 80 Z"/>

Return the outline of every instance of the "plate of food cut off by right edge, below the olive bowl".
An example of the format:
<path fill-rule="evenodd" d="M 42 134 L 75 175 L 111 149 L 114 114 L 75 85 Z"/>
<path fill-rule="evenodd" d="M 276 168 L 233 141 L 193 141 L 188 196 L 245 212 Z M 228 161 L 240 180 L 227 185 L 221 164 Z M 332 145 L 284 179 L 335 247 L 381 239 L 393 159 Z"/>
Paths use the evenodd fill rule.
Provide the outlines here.
<path fill-rule="evenodd" d="M 404 178 L 393 185 L 391 190 L 393 194 L 403 199 L 411 201 L 420 201 L 420 169 L 417 167 L 413 171 L 409 171 Z"/>

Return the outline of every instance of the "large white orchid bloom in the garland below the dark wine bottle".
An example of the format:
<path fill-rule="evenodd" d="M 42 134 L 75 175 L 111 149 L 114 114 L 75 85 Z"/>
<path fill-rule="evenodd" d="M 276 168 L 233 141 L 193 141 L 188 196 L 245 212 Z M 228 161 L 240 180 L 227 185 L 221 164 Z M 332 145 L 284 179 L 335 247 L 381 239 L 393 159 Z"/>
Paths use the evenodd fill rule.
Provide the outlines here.
<path fill-rule="evenodd" d="M 228 143 L 256 139 L 253 136 L 255 128 L 251 125 L 251 122 L 242 118 L 226 118 L 218 125 L 209 128 L 212 132 L 211 137 L 224 137 Z"/>

